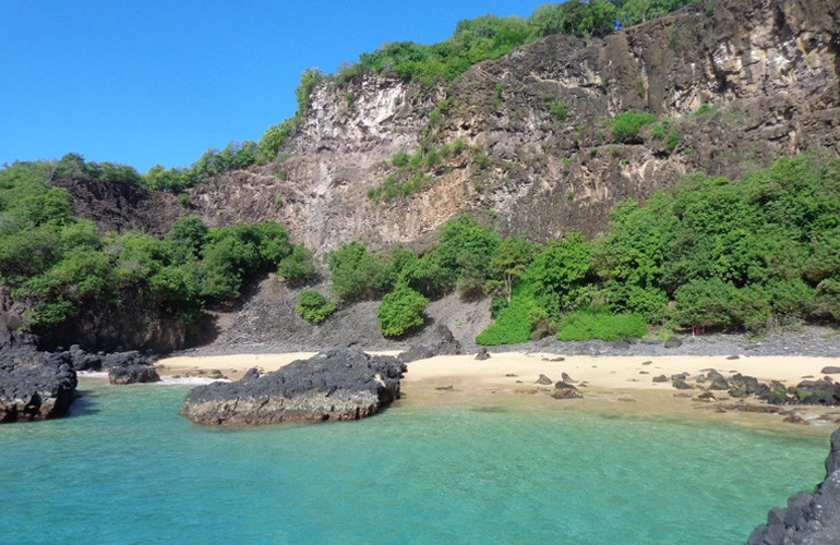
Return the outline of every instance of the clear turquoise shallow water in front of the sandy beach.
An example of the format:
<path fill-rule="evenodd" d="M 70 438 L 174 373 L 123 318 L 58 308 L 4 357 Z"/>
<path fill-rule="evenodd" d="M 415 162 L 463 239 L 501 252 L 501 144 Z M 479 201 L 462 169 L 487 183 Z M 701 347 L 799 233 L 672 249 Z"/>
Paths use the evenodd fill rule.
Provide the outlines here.
<path fill-rule="evenodd" d="M 219 429 L 184 386 L 0 426 L 3 543 L 743 543 L 828 438 L 571 411 L 399 408 Z"/>

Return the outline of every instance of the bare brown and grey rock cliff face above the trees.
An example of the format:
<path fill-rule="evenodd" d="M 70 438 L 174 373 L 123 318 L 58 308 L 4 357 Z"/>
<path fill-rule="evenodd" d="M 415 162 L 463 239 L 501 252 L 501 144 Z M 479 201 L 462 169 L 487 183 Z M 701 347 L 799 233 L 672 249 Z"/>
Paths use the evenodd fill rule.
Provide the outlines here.
<path fill-rule="evenodd" d="M 840 153 L 839 29 L 832 0 L 698 3 L 604 39 L 529 44 L 447 88 L 328 81 L 276 161 L 195 187 L 192 211 L 209 225 L 277 219 L 317 251 L 410 243 L 461 211 L 535 239 L 593 234 L 619 199 L 684 173 L 733 178 L 780 155 Z M 657 122 L 617 137 L 613 118 L 629 110 Z M 460 154 L 413 170 L 419 191 L 369 196 L 405 177 L 395 153 L 457 138 Z"/>

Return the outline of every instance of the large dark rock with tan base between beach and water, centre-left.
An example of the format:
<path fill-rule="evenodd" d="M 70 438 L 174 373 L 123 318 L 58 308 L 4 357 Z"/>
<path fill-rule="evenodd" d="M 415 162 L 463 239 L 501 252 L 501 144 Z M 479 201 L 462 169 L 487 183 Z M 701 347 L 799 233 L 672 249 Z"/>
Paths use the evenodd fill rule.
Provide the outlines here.
<path fill-rule="evenodd" d="M 331 350 L 265 375 L 252 368 L 236 383 L 200 386 L 181 414 L 213 425 L 363 419 L 399 398 L 405 371 L 392 356 Z"/>

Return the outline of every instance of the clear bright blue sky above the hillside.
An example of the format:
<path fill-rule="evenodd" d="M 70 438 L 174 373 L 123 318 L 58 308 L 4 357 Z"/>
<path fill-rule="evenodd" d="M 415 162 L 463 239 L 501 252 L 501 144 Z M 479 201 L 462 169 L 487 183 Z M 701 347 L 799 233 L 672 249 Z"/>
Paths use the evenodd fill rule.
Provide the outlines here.
<path fill-rule="evenodd" d="M 0 165 L 185 167 L 295 113 L 309 66 L 545 0 L 0 0 Z"/>

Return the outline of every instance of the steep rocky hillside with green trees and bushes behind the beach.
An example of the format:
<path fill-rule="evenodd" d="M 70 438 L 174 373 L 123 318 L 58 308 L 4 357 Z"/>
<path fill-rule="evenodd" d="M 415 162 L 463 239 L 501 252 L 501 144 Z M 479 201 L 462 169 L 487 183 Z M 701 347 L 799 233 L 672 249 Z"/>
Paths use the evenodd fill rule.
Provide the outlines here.
<path fill-rule="evenodd" d="M 840 14 L 831 1 L 697 3 L 604 38 L 549 36 L 452 80 L 415 77 L 410 63 L 408 72 L 399 65 L 327 77 L 307 71 L 295 118 L 271 128 L 259 144 L 209 150 L 189 169 L 139 174 L 74 154 L 15 164 L 0 170 L 0 341 L 24 325 L 45 344 L 166 351 L 194 342 L 207 310 L 228 312 L 216 314 L 217 338 L 226 342 L 276 342 L 281 329 L 288 346 L 329 331 L 338 343 L 376 346 L 383 336 L 417 331 L 430 316 L 455 327 L 457 318 L 471 338 L 488 320 L 487 306 L 473 305 L 466 324 L 452 301 L 435 306 L 456 289 L 467 299 L 494 295 L 493 314 L 503 325 L 485 343 L 527 339 L 535 324 L 548 335 L 577 308 L 633 313 L 638 323 L 620 325 L 634 331 L 672 319 L 760 329 L 777 318 L 836 318 L 836 270 L 799 262 L 775 267 L 772 255 L 788 255 L 776 252 L 751 254 L 733 271 L 724 263 L 732 246 L 720 233 L 694 237 L 691 221 L 664 232 L 663 226 L 684 222 L 680 203 L 687 196 L 668 206 L 661 196 L 651 199 L 660 207 L 651 210 L 667 214 L 640 213 L 651 232 L 664 229 L 652 254 L 649 243 L 631 249 L 650 257 L 644 278 L 626 274 L 627 245 L 613 245 L 613 235 L 595 245 L 581 235 L 555 240 L 602 232 L 616 203 L 645 201 L 685 173 L 710 174 L 694 180 L 715 193 L 725 181 L 713 177 L 735 180 L 779 156 L 816 149 L 813 160 L 778 164 L 778 177 L 754 178 L 769 175 L 768 187 L 803 185 L 818 197 L 806 192 L 801 203 L 791 201 L 819 208 L 807 216 L 811 222 L 785 223 L 782 234 L 791 241 L 769 244 L 769 232 L 761 241 L 808 263 L 819 252 L 835 255 L 837 226 L 824 221 L 836 209 L 832 158 L 840 152 Z M 831 186 L 815 190 L 820 180 Z M 732 211 L 727 226 L 756 231 L 777 222 L 756 208 L 756 195 L 722 191 L 720 202 L 744 204 L 749 213 L 732 222 L 741 214 Z M 625 202 L 615 213 L 620 228 L 622 218 L 625 228 L 636 221 L 631 211 Z M 201 219 L 184 218 L 194 215 Z M 700 218 L 697 226 L 707 223 Z M 814 235 L 820 226 L 830 231 L 826 241 Z M 729 249 L 715 246 L 720 270 L 695 267 L 707 261 L 704 244 L 720 241 Z M 435 249 L 417 255 L 394 246 L 399 242 Z M 363 244 L 391 249 L 389 257 L 371 255 Z M 300 291 L 316 277 L 308 249 L 328 265 L 334 301 Z M 683 275 L 688 265 L 693 272 Z M 263 282 L 243 301 L 248 282 L 274 270 L 295 289 Z M 673 274 L 665 278 L 663 270 Z M 574 293 L 569 281 L 579 288 Z M 777 292 L 803 304 L 780 308 L 775 301 L 787 299 Z M 697 294 L 708 295 L 709 308 L 691 306 Z M 368 302 L 379 298 L 374 318 L 376 305 Z M 721 298 L 737 304 L 721 311 Z M 343 305 L 323 325 L 292 314 L 319 324 L 336 303 L 359 301 L 359 312 Z M 338 318 L 364 316 L 364 327 L 344 335 L 347 320 Z"/>

